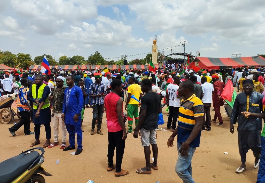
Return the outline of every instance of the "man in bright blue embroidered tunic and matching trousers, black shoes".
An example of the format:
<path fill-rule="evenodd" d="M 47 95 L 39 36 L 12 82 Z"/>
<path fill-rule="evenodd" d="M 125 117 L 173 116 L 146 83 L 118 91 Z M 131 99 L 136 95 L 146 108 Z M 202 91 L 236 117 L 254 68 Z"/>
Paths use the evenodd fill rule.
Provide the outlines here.
<path fill-rule="evenodd" d="M 82 89 L 74 85 L 74 76 L 66 77 L 68 88 L 64 90 L 64 102 L 62 120 L 64 120 L 66 129 L 69 133 L 70 145 L 63 151 L 76 149 L 75 138 L 77 139 L 77 150 L 75 155 L 82 153 L 82 129 L 81 129 L 81 111 L 84 103 Z"/>

